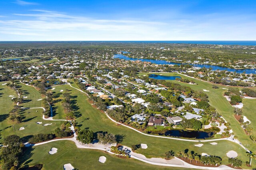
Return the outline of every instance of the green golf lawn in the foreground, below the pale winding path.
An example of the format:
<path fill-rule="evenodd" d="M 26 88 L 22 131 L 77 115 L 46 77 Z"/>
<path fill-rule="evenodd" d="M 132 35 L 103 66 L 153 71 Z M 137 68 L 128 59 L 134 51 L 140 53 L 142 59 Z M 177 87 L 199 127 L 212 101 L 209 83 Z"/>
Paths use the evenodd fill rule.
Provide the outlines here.
<path fill-rule="evenodd" d="M 57 153 L 49 154 L 52 147 L 57 148 Z M 78 149 L 72 141 L 56 141 L 39 145 L 27 149 L 26 158 L 22 160 L 22 165 L 33 166 L 35 164 L 43 164 L 45 170 L 62 170 L 64 164 L 72 164 L 74 168 L 79 170 L 183 170 L 185 168 L 155 166 L 135 160 L 132 158 L 122 159 L 118 156 L 108 154 L 100 150 Z M 104 164 L 98 162 L 100 156 L 106 157 Z M 27 162 L 27 163 L 26 163 Z M 186 170 L 192 170 L 186 168 Z"/>

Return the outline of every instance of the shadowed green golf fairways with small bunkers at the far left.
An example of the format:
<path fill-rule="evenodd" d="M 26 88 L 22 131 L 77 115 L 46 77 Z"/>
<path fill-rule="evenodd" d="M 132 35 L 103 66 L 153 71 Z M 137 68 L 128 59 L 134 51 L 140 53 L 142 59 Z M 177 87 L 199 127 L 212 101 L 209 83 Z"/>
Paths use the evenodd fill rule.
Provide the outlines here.
<path fill-rule="evenodd" d="M 0 84 L 3 84 L 5 82 L 1 82 Z M 24 85 L 24 87 L 26 87 L 26 85 Z M 30 94 L 32 92 L 34 93 L 39 93 L 37 90 L 35 90 L 35 88 L 31 87 L 31 86 L 27 86 L 26 88 L 23 88 L 22 86 L 22 90 L 25 90 L 25 93 L 28 93 L 28 96 L 31 96 Z M 32 92 L 28 91 L 28 90 L 32 90 Z M 12 96 L 17 96 L 16 92 L 14 90 L 12 90 L 11 88 L 9 88 L 8 86 L 1 86 L 0 87 L 0 137 L 1 140 L 0 142 L 8 135 L 18 135 L 20 137 L 27 137 L 29 135 L 35 135 L 38 133 L 50 133 L 52 131 L 54 131 L 54 129 L 56 127 L 60 127 L 60 125 L 63 123 L 61 121 L 46 121 L 42 119 L 42 109 L 25 109 L 25 110 L 21 110 L 20 113 L 23 116 L 23 120 L 21 123 L 15 123 L 13 121 L 11 121 L 8 117 L 9 117 L 9 112 L 10 110 L 13 108 L 14 106 L 14 102 L 11 101 L 11 97 L 9 97 L 10 95 Z M 22 95 L 24 96 L 24 95 Z M 36 95 L 35 95 L 36 96 Z M 30 101 L 32 102 L 32 101 Z M 37 101 L 39 102 L 39 101 Z M 4 103 L 4 105 L 3 105 Z M 33 107 L 33 106 L 32 106 Z M 39 106 L 35 106 L 35 107 L 41 107 Z M 36 112 L 38 111 L 38 112 Z M 38 125 L 36 122 L 42 122 L 42 124 Z M 43 126 L 46 123 L 52 123 L 52 125 L 48 125 L 48 126 Z M 20 127 L 25 127 L 24 130 L 19 131 Z"/>

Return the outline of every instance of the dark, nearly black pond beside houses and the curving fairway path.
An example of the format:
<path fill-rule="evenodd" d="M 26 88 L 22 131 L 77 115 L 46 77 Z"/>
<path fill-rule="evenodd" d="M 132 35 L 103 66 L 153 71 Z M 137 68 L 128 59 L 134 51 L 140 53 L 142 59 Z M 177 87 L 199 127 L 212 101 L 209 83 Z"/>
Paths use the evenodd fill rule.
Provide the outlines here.
<path fill-rule="evenodd" d="M 185 138 L 196 138 L 196 139 L 206 139 L 212 137 L 214 133 L 202 132 L 202 131 L 180 131 L 180 130 L 169 130 L 165 132 L 166 136 L 172 137 L 185 137 Z"/>

